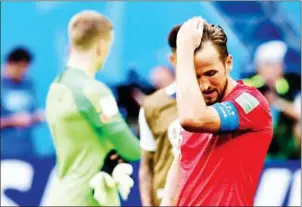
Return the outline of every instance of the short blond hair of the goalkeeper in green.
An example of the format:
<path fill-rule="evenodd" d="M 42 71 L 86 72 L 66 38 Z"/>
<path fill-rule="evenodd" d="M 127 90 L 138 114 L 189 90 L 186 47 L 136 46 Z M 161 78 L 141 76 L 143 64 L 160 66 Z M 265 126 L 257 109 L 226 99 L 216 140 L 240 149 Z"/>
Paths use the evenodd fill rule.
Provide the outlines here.
<path fill-rule="evenodd" d="M 68 26 L 71 44 L 80 50 L 89 49 L 99 39 L 111 40 L 111 22 L 102 14 L 86 10 L 75 14 Z"/>

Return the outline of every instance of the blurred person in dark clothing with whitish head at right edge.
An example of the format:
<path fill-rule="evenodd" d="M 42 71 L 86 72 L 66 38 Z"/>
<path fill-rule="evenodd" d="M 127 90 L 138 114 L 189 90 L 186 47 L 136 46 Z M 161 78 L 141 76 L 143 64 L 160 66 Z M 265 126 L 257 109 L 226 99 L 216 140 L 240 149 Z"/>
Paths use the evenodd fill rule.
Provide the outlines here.
<path fill-rule="evenodd" d="M 293 100 L 300 89 L 301 77 L 285 74 L 284 58 L 287 46 L 281 41 L 263 43 L 255 54 L 256 75 L 245 80 L 258 88 L 271 105 L 274 123 L 274 138 L 269 155 L 276 158 L 300 158 L 294 144 L 293 125 L 297 120 L 293 109 Z M 300 70 L 300 68 L 297 68 Z"/>

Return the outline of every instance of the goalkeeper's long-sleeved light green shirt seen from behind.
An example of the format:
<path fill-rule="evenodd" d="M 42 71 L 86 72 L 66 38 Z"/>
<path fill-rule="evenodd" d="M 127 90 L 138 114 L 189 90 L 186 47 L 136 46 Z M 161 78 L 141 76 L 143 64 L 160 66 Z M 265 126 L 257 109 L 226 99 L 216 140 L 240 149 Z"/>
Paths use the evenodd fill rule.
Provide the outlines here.
<path fill-rule="evenodd" d="M 46 117 L 58 173 L 47 205 L 98 206 L 89 181 L 103 167 L 107 153 L 115 149 L 126 160 L 140 158 L 138 139 L 114 96 L 83 71 L 68 68 L 50 86 Z"/>

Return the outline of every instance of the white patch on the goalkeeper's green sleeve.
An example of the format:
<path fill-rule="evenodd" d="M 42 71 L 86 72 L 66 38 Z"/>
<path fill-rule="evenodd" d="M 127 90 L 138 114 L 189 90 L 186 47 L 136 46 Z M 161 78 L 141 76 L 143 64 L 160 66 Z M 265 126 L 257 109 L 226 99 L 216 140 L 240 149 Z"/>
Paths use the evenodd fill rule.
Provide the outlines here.
<path fill-rule="evenodd" d="M 100 99 L 102 119 L 107 120 L 118 113 L 118 106 L 113 96 L 106 96 Z"/>

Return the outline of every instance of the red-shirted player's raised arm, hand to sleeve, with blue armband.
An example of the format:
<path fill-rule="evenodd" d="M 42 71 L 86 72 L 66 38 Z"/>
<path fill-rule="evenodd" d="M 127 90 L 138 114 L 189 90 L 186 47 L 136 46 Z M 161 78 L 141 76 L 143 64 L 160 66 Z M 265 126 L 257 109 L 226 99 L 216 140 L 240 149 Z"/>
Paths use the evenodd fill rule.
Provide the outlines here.
<path fill-rule="evenodd" d="M 194 63 L 203 25 L 202 18 L 192 18 L 182 25 L 177 34 L 176 99 L 181 126 L 189 132 L 212 134 L 270 128 L 268 107 L 249 92 L 237 94 L 237 101 L 206 105 L 196 79 Z"/>

